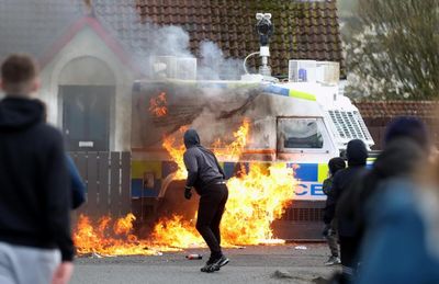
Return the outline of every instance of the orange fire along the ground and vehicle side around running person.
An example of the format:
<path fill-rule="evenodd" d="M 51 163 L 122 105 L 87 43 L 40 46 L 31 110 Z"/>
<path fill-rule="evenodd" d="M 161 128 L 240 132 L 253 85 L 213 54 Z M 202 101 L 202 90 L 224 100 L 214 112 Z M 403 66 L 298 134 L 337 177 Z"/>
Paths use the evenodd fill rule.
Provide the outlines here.
<path fill-rule="evenodd" d="M 180 129 L 181 134 L 187 127 Z M 214 152 L 224 160 L 238 160 L 247 145 L 249 122 L 245 120 L 235 140 L 225 145 L 217 140 Z M 182 140 L 182 139 L 180 139 Z M 225 145 L 225 146 L 224 146 Z M 185 179 L 183 163 L 184 146 L 177 138 L 165 137 L 164 148 L 178 164 L 175 179 Z M 296 181 L 293 169 L 285 163 L 251 163 L 248 171 L 243 167 L 243 174 L 227 181 L 229 197 L 222 220 L 222 246 L 271 243 L 273 234 L 271 223 L 281 217 L 292 202 Z M 203 246 L 201 236 L 192 221 L 173 216 L 160 219 L 154 227 L 150 238 L 139 240 L 133 235 L 135 217 L 128 214 L 110 226 L 111 219 L 104 217 L 98 226 L 81 216 L 74 239 L 79 253 L 97 252 L 104 255 L 157 254 L 158 251 L 176 250 L 192 246 Z"/>

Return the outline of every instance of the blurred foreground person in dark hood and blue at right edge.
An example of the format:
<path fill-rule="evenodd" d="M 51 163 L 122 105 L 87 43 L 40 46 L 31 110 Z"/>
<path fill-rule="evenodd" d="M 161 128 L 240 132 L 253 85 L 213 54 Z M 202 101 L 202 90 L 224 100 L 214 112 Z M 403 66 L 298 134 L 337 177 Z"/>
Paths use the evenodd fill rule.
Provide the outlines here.
<path fill-rule="evenodd" d="M 425 185 L 414 178 L 418 169 L 426 174 L 434 166 L 428 154 L 423 122 L 398 117 L 389 126 L 385 149 L 360 192 L 367 204 L 357 215 L 367 237 L 357 283 L 439 283 L 439 259 L 429 241 L 436 240 L 435 211 L 429 209 L 437 205 L 437 189 L 421 189 Z M 437 177 L 436 167 L 430 174 L 423 178 Z"/>

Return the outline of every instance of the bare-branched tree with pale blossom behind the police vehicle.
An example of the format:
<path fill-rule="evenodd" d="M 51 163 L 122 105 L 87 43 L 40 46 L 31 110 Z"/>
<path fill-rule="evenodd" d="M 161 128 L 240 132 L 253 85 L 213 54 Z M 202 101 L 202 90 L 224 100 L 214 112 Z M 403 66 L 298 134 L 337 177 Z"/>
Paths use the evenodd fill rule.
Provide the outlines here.
<path fill-rule="evenodd" d="M 353 98 L 439 99 L 439 0 L 359 0 L 346 42 Z"/>

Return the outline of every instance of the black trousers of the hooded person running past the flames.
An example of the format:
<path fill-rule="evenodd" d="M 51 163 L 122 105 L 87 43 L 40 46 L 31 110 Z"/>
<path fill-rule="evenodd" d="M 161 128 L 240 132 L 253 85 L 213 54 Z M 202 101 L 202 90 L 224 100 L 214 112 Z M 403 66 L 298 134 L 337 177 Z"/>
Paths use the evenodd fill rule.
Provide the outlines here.
<path fill-rule="evenodd" d="M 211 250 L 212 257 L 217 258 L 221 251 L 219 224 L 228 198 L 226 184 L 213 184 L 200 197 L 196 230 L 203 237 Z"/>

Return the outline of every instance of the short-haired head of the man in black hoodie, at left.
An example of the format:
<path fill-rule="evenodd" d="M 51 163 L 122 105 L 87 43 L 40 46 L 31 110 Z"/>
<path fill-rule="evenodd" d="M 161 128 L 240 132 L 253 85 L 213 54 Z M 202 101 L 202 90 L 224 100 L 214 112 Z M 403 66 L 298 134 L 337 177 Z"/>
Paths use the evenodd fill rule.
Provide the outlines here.
<path fill-rule="evenodd" d="M 26 94 L 29 84 L 37 77 L 38 67 L 25 54 L 12 54 L 1 65 L 1 81 L 7 93 Z"/>

